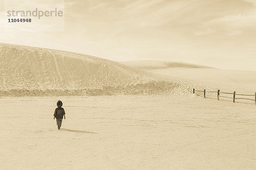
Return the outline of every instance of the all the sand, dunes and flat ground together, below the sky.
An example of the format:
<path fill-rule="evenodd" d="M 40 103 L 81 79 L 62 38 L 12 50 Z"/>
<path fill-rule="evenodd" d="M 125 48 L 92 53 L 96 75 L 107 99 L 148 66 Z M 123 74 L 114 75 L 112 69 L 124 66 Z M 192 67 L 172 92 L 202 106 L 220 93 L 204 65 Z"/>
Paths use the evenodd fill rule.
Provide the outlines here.
<path fill-rule="evenodd" d="M 256 72 L 0 44 L 1 170 L 256 169 Z M 61 130 L 56 102 L 66 111 Z"/>

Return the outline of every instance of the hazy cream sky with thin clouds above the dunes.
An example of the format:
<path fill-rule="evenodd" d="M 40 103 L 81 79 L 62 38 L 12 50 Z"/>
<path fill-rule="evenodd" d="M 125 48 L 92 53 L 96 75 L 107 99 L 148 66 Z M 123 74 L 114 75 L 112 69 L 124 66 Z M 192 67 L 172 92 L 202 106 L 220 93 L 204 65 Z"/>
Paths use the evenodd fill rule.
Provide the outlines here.
<path fill-rule="evenodd" d="M 256 0 L 65 0 L 63 32 L 4 31 L 3 2 L 0 42 L 256 71 Z"/>

